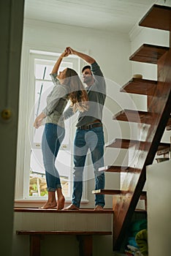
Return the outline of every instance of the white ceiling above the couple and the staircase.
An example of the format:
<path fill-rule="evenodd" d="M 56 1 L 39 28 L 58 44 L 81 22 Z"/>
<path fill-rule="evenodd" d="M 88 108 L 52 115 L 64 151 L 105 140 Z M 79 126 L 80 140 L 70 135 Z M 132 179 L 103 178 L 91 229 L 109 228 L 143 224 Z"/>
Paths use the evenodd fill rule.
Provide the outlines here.
<path fill-rule="evenodd" d="M 128 34 L 153 4 L 171 0 L 25 0 L 25 18 Z"/>

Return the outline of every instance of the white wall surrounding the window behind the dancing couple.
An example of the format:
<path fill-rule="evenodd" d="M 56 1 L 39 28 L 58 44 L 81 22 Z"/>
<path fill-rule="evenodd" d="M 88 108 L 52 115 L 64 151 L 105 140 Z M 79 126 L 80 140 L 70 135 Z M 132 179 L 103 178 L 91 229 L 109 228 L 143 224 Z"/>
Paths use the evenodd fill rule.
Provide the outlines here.
<path fill-rule="evenodd" d="M 104 76 L 107 80 L 107 101 L 104 107 L 105 143 L 115 138 L 129 138 L 130 134 L 132 134 L 132 127 L 129 124 L 121 124 L 112 119 L 113 115 L 117 113 L 118 110 L 132 108 L 132 97 L 119 92 L 123 83 L 129 80 L 131 73 L 131 63 L 129 61 L 130 42 L 128 35 L 115 34 L 107 31 L 95 31 L 93 29 L 83 29 L 55 23 L 45 23 L 43 21 L 25 20 L 20 83 L 21 94 L 27 94 L 29 90 L 29 50 L 45 50 L 58 53 L 64 50 L 66 46 L 71 46 L 76 50 L 83 51 L 93 56 L 104 72 Z M 26 116 L 27 103 L 26 100 L 21 97 L 21 94 L 20 138 L 18 139 L 18 148 L 20 151 L 24 151 L 26 137 L 25 134 L 22 135 L 22 130 L 26 125 L 28 116 Z M 124 157 L 124 150 L 119 151 L 119 149 L 107 148 L 104 154 L 105 165 L 112 165 L 114 163 L 116 165 L 122 165 Z M 22 175 L 23 164 L 26 160 L 27 159 L 22 158 L 22 155 L 18 152 L 18 163 L 20 162 L 20 165 L 18 164 L 18 173 L 20 173 L 20 175 Z M 119 182 L 119 174 L 107 173 L 107 189 L 119 189 Z M 18 178 L 16 184 L 20 184 Z M 94 195 L 91 194 L 92 189 L 94 189 L 94 180 L 91 178 L 88 181 L 87 189 L 90 203 L 86 207 L 94 207 Z M 20 186 L 20 192 L 16 195 L 17 198 L 20 198 L 21 191 L 22 185 Z M 106 206 L 112 207 L 112 197 L 106 196 Z"/>

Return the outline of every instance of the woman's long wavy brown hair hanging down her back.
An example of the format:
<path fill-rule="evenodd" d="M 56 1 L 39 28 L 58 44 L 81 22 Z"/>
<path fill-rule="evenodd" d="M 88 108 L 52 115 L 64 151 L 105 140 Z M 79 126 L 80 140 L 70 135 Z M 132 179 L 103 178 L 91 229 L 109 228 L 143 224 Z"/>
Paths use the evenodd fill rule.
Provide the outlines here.
<path fill-rule="evenodd" d="M 65 85 L 69 86 L 69 99 L 71 100 L 71 107 L 73 111 L 80 110 L 81 112 L 88 110 L 88 94 L 81 82 L 77 72 L 66 69 Z"/>

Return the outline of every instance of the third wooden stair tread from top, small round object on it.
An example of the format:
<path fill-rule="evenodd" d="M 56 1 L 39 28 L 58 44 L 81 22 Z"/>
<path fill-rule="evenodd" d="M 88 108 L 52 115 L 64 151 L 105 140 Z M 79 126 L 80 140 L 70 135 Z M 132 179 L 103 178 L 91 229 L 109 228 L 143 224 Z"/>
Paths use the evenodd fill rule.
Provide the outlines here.
<path fill-rule="evenodd" d="M 156 83 L 157 81 L 155 80 L 132 78 L 120 91 L 129 94 L 153 95 L 153 89 L 155 89 Z"/>

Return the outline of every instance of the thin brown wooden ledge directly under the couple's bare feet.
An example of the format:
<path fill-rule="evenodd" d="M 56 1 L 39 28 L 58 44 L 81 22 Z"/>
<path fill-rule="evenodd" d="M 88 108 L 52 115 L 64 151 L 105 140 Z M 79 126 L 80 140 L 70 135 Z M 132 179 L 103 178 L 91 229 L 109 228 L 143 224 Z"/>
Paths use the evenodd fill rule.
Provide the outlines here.
<path fill-rule="evenodd" d="M 66 211 L 57 211 L 56 208 L 51 208 L 51 209 L 40 209 L 40 208 L 20 208 L 20 207 L 15 207 L 14 208 L 15 212 L 47 212 L 47 213 L 56 213 L 56 214 L 113 214 L 113 210 L 111 208 L 107 208 L 103 211 L 94 211 L 94 208 L 80 208 L 80 210 L 66 210 Z"/>

